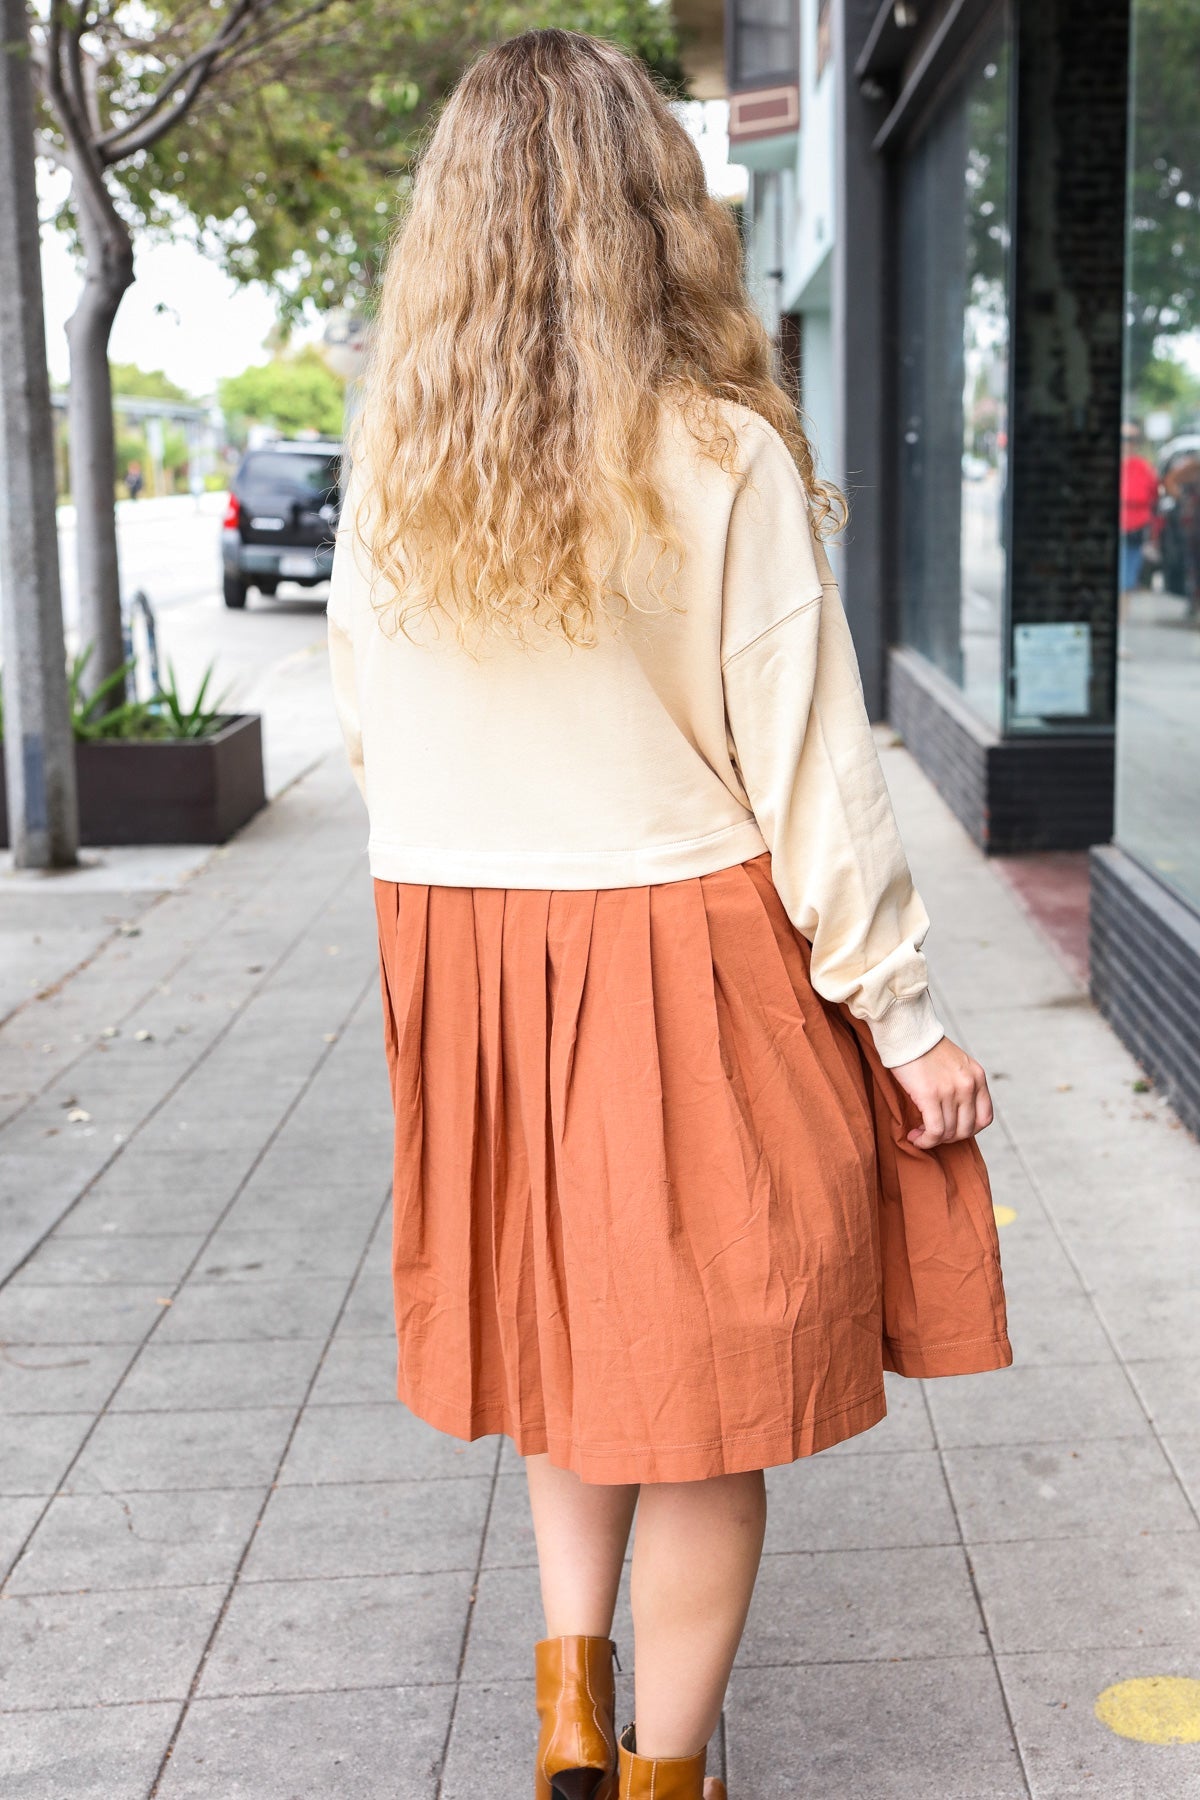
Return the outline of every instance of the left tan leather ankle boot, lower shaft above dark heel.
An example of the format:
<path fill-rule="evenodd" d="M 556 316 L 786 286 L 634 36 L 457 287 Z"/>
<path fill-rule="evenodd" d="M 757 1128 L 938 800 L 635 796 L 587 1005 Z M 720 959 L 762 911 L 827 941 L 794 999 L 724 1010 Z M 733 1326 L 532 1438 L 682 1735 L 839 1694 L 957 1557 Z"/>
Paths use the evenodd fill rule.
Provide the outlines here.
<path fill-rule="evenodd" d="M 543 1638 L 534 1800 L 617 1800 L 612 1638 Z"/>

